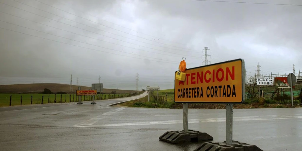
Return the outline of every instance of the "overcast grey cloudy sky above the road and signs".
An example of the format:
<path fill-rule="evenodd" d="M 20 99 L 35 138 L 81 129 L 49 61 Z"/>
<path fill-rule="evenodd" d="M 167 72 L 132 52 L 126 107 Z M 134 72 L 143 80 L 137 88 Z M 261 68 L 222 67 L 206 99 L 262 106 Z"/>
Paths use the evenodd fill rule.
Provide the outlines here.
<path fill-rule="evenodd" d="M 248 75 L 302 72 L 300 0 L 0 0 L 0 85 L 174 87 L 187 68 L 245 60 Z"/>

